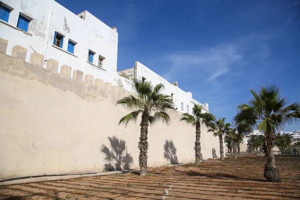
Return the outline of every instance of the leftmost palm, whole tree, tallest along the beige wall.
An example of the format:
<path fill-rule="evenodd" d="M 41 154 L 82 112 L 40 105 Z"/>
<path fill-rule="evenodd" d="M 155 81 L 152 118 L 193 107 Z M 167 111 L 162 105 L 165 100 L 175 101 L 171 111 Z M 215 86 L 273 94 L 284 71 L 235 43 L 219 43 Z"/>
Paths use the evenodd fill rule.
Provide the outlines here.
<path fill-rule="evenodd" d="M 135 80 L 132 88 L 137 92 L 137 97 L 133 95 L 125 96 L 118 100 L 116 104 L 122 104 L 127 108 L 134 109 L 129 114 L 123 116 L 118 124 L 127 125 L 129 121 L 136 122 L 138 114 L 141 114 L 140 136 L 138 142 L 140 175 L 146 175 L 147 171 L 147 151 L 148 151 L 148 126 L 157 121 L 169 123 L 170 116 L 166 113 L 168 109 L 174 109 L 173 101 L 169 95 L 161 94 L 164 89 L 162 83 L 155 87 L 148 81 Z"/>

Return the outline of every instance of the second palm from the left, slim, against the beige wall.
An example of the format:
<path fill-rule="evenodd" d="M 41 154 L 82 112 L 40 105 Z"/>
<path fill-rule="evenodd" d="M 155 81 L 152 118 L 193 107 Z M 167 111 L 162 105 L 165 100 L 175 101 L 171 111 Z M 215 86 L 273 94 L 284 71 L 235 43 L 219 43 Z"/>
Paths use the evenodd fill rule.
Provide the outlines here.
<path fill-rule="evenodd" d="M 208 112 L 202 112 L 202 105 L 194 104 L 192 108 L 193 115 L 185 112 L 182 114 L 180 121 L 184 120 L 187 123 L 190 123 L 196 127 L 196 139 L 195 139 L 195 165 L 200 164 L 201 157 L 201 145 L 200 145 L 200 136 L 201 136 L 201 125 L 204 124 L 208 126 L 215 119 L 213 114 Z"/>

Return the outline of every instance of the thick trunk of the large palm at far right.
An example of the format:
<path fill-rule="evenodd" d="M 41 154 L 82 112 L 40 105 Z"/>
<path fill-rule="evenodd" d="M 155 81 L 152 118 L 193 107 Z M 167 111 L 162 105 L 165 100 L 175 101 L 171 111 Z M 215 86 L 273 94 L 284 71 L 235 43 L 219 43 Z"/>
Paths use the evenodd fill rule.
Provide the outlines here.
<path fill-rule="evenodd" d="M 279 174 L 278 168 L 275 165 L 274 157 L 274 146 L 275 146 L 275 134 L 273 132 L 266 132 L 265 134 L 265 146 L 266 146 L 266 163 L 264 165 L 263 176 L 267 181 L 279 182 L 281 181 L 281 176 Z"/>

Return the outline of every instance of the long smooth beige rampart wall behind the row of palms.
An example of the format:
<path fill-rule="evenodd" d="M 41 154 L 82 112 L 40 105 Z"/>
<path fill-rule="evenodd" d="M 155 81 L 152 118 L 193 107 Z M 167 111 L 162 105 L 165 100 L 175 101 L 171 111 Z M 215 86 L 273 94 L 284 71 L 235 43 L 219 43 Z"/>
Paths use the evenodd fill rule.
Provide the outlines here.
<path fill-rule="evenodd" d="M 99 79 L 93 86 L 92 76 L 84 76 L 83 84 L 80 71 L 72 79 L 68 66 L 63 76 L 55 61 L 45 69 L 37 63 L 39 55 L 31 57 L 34 65 L 0 52 L 0 179 L 103 171 L 99 149 L 109 147 L 107 137 L 113 135 L 126 141 L 130 168 L 138 167 L 139 123 L 117 125 L 129 110 L 115 101 L 129 92 Z M 170 116 L 170 125 L 149 127 L 148 166 L 169 163 L 163 156 L 165 140 L 173 141 L 178 162 L 194 160 L 194 127 L 179 122 L 178 111 Z M 204 159 L 212 157 L 212 148 L 219 156 L 218 138 L 206 128 L 201 147 Z"/>

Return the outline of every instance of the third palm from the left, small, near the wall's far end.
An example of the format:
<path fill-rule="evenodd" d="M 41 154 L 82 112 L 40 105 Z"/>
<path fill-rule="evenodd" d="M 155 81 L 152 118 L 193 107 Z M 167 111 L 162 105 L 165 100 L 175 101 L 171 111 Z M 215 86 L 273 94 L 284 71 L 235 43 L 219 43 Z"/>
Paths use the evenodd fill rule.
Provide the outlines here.
<path fill-rule="evenodd" d="M 225 123 L 225 117 L 220 117 L 219 120 L 215 120 L 213 123 L 209 124 L 210 129 L 208 129 L 208 132 L 213 132 L 214 136 L 219 137 L 221 160 L 224 160 L 223 134 L 229 130 L 230 125 L 230 123 Z"/>

